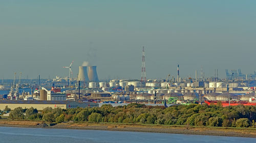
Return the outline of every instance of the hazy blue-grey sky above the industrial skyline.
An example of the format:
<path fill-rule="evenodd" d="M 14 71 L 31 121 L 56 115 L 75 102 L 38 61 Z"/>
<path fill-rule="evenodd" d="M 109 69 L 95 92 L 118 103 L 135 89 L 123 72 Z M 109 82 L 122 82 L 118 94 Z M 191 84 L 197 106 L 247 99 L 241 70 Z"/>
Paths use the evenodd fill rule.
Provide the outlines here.
<path fill-rule="evenodd" d="M 205 76 L 256 70 L 256 1 L 0 1 L 0 77 L 73 77 L 83 61 L 100 79 Z"/>

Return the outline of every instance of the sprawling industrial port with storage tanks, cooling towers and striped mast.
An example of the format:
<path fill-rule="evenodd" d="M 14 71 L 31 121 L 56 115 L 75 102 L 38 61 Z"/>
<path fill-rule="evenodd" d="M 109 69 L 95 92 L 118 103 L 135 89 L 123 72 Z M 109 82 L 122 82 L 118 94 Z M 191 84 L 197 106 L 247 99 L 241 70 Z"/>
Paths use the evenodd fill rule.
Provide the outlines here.
<path fill-rule="evenodd" d="M 141 79 L 111 79 L 102 81 L 97 74 L 96 66 L 79 66 L 77 77 L 72 78 L 73 62 L 68 67 L 69 77 L 55 79 L 21 80 L 22 73 L 14 73 L 12 82 L 2 80 L 1 90 L 8 93 L 0 95 L 4 104 L 16 107 L 17 104 L 33 104 L 40 108 L 45 106 L 62 108 L 85 107 L 94 103 L 145 103 L 163 105 L 174 104 L 217 104 L 256 105 L 256 72 L 242 74 L 241 69 L 226 70 L 226 78 L 215 76 L 205 78 L 201 70 L 200 77 L 195 71 L 195 78 L 180 76 L 180 66 L 177 75 L 166 73 L 166 79 L 146 79 L 145 49 L 142 48 Z M 12 103 L 13 101 L 13 103 Z M 33 102 L 32 102 L 33 101 Z M 61 102 L 65 101 L 65 102 Z M 66 102 L 67 101 L 67 102 Z M 71 102 L 72 101 L 72 102 Z M 70 105 L 74 106 L 70 106 Z M 75 106 L 76 105 L 76 106 Z"/>

